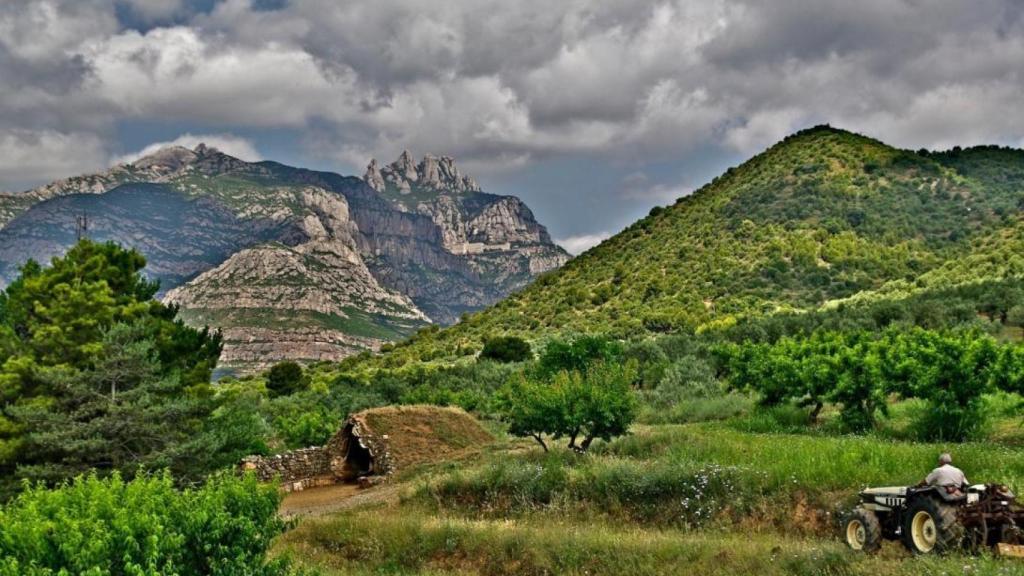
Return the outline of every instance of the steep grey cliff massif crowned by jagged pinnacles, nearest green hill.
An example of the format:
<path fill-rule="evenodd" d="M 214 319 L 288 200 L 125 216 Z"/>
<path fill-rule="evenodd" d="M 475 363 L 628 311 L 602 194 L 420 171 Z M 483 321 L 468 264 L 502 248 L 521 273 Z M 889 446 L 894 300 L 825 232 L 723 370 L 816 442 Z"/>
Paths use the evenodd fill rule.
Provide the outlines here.
<path fill-rule="evenodd" d="M 406 151 L 383 167 L 372 160 L 364 178 L 390 204 L 389 217 L 409 224 L 360 223 L 364 231 L 388 231 L 373 235 L 370 251 L 376 257 L 370 266 L 436 322 L 453 324 L 569 258 L 522 201 L 481 192 L 449 157 L 427 155 L 417 163 Z M 431 225 L 437 238 L 394 235 Z M 424 243 L 426 238 L 431 240 Z"/>

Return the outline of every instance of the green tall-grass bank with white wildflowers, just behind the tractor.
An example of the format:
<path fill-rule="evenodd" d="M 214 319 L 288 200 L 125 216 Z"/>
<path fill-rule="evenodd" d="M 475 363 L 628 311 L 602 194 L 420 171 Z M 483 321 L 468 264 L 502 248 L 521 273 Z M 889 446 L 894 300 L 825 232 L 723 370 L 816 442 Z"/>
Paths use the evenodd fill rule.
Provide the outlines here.
<path fill-rule="evenodd" d="M 796 527 L 806 532 L 820 530 L 866 486 L 915 484 L 944 451 L 972 482 L 1024 487 L 1024 453 L 1005 446 L 751 434 L 705 423 L 641 427 L 588 456 L 495 454 L 425 482 L 415 499 L 475 518 L 545 511 L 705 527 L 757 517 L 783 529 L 793 528 L 802 502 L 815 517 Z"/>

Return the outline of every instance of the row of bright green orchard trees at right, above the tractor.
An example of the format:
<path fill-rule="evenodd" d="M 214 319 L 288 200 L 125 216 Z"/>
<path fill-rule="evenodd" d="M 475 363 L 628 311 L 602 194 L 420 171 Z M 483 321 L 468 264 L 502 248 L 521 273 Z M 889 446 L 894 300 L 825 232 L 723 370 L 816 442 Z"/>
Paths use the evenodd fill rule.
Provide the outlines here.
<path fill-rule="evenodd" d="M 733 389 L 809 407 L 812 421 L 834 404 L 851 431 L 873 426 L 890 400 L 921 399 L 930 439 L 963 440 L 984 423 L 986 394 L 1024 390 L 1024 348 L 977 330 L 819 331 L 717 352 Z"/>

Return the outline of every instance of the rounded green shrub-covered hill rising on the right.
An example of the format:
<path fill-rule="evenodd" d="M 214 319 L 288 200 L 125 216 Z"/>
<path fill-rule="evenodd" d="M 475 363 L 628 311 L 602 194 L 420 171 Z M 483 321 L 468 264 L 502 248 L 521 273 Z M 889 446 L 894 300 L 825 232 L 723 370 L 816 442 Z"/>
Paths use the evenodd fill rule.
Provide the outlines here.
<path fill-rule="evenodd" d="M 1024 152 L 915 153 L 818 126 L 397 356 L 458 356 L 503 333 L 701 329 L 1017 276 L 1022 203 Z"/>

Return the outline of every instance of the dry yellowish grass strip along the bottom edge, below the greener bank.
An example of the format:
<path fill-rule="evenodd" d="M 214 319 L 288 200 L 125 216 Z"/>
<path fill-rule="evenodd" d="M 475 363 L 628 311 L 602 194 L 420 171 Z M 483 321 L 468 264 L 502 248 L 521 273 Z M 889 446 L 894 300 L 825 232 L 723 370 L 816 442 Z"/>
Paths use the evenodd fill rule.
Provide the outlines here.
<path fill-rule="evenodd" d="M 303 522 L 276 552 L 325 576 L 481 574 L 540 576 L 662 574 L 910 576 L 1019 574 L 990 558 L 881 558 L 839 541 L 776 534 L 680 532 L 550 516 L 467 520 L 404 504 Z"/>

